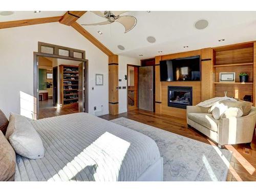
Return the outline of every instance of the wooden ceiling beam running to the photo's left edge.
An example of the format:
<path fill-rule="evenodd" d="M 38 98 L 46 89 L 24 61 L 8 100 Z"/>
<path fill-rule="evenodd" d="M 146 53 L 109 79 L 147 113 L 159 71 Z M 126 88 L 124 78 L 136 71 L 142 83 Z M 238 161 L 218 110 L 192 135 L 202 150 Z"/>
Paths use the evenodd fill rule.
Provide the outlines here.
<path fill-rule="evenodd" d="M 24 20 L 12 20 L 10 22 L 0 22 L 0 29 L 59 22 L 61 18 L 62 16 L 56 16 L 56 17 L 32 18 L 32 19 L 24 19 Z"/>

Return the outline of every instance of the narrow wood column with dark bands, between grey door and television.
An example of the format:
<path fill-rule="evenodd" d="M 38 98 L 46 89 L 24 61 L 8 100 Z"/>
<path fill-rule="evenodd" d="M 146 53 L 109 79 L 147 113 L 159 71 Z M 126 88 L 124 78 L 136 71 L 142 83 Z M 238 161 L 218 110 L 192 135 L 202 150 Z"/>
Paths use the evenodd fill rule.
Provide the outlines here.
<path fill-rule="evenodd" d="M 155 112 L 157 114 L 161 114 L 161 111 L 162 111 L 160 60 L 161 60 L 161 56 L 155 57 Z"/>

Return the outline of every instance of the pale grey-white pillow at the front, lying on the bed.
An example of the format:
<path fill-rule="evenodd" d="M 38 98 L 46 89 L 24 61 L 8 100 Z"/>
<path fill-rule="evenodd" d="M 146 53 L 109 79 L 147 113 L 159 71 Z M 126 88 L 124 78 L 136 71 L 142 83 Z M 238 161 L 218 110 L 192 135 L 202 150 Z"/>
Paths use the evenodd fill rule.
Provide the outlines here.
<path fill-rule="evenodd" d="M 11 113 L 7 133 L 7 139 L 17 154 L 29 159 L 44 157 L 42 140 L 26 117 Z"/>

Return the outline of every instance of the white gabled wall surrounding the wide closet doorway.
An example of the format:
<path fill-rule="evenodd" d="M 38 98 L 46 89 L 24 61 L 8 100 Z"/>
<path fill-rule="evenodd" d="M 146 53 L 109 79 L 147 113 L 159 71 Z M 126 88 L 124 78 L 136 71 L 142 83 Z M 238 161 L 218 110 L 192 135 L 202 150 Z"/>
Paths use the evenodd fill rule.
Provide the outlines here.
<path fill-rule="evenodd" d="M 33 96 L 33 52 L 38 41 L 86 51 L 89 113 L 94 114 L 93 106 L 103 104 L 103 114 L 108 114 L 108 56 L 72 27 L 59 23 L 0 30 L 0 109 L 8 117 L 10 112 L 20 113 L 20 93 Z M 104 74 L 104 86 L 95 86 L 96 73 Z"/>

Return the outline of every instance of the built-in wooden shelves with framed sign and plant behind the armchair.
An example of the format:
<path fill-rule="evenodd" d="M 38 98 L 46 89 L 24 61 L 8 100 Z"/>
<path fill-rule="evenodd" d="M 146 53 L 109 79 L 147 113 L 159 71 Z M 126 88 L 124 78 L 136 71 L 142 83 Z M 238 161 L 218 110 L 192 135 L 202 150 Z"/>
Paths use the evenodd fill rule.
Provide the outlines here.
<path fill-rule="evenodd" d="M 214 48 L 214 96 L 223 97 L 224 91 L 227 96 L 237 99 L 243 99 L 245 95 L 250 95 L 255 105 L 255 68 L 253 58 L 253 42 L 223 46 Z M 220 82 L 219 76 L 221 72 L 235 72 L 235 82 Z M 241 83 L 239 81 L 239 73 L 246 72 L 249 74 L 249 82 Z"/>

